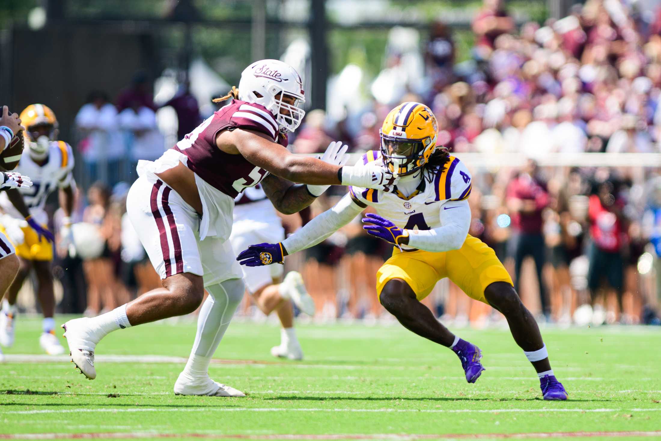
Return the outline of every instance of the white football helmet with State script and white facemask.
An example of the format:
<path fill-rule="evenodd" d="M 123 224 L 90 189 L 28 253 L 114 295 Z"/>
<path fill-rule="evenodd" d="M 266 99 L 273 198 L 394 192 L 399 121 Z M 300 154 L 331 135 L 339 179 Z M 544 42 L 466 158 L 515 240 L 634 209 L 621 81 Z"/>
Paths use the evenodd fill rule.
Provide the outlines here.
<path fill-rule="evenodd" d="M 293 105 L 282 100 L 284 95 L 295 98 Z M 301 124 L 305 110 L 298 106 L 305 102 L 304 95 L 301 76 L 280 60 L 255 61 L 241 73 L 239 99 L 262 104 L 270 110 L 282 132 L 293 132 Z M 280 110 L 286 110 L 286 114 Z"/>

